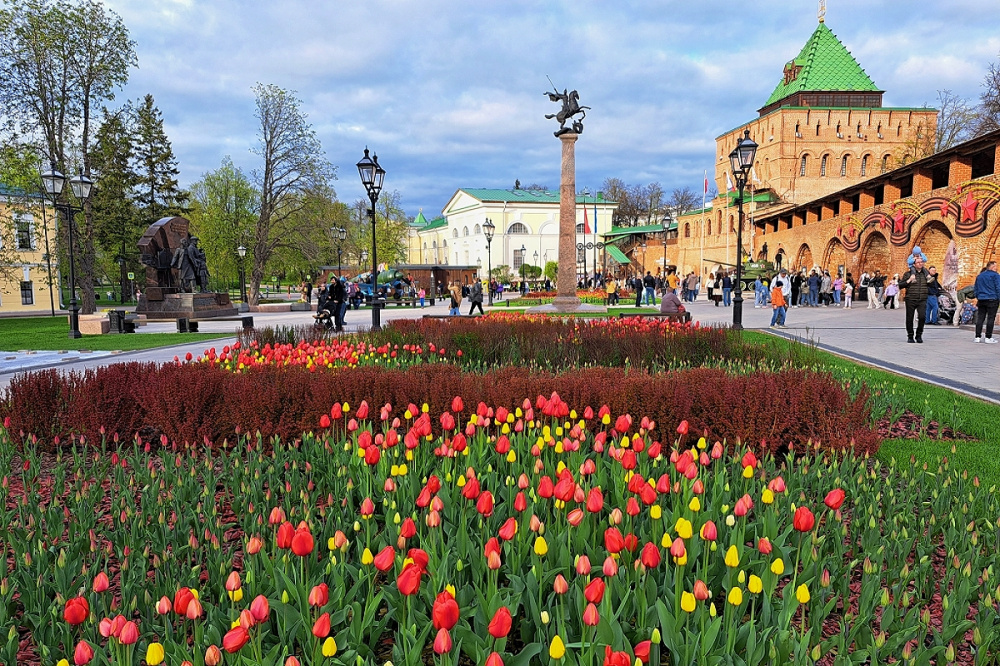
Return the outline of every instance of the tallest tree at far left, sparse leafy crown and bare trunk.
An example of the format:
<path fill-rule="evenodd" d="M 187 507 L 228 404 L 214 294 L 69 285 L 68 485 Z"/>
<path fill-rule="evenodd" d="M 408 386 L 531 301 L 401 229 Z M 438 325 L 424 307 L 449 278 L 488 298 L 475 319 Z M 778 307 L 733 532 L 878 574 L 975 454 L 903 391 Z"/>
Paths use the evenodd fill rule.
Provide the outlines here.
<path fill-rule="evenodd" d="M 91 175 L 93 111 L 114 99 L 135 64 L 125 24 L 96 0 L 22 0 L 0 9 L 0 107 L 10 125 L 63 173 L 75 170 L 70 157 L 76 151 L 84 174 Z M 89 313 L 95 307 L 96 269 L 89 203 L 77 226 L 81 309 Z M 65 224 L 60 231 L 65 247 Z"/>

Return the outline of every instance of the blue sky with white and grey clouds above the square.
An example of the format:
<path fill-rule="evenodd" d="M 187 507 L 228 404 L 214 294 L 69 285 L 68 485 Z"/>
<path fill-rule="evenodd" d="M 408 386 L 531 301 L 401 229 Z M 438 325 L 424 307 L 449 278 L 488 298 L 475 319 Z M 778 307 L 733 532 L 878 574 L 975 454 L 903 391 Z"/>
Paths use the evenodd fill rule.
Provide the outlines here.
<path fill-rule="evenodd" d="M 411 215 L 460 187 L 559 184 L 546 76 L 588 112 L 577 185 L 701 191 L 715 137 L 753 118 L 817 25 L 814 0 L 105 0 L 137 42 L 183 184 L 256 165 L 252 87 L 296 91 L 338 196 L 367 145 Z M 975 99 L 1000 57 L 996 0 L 829 0 L 826 21 L 887 106 Z"/>

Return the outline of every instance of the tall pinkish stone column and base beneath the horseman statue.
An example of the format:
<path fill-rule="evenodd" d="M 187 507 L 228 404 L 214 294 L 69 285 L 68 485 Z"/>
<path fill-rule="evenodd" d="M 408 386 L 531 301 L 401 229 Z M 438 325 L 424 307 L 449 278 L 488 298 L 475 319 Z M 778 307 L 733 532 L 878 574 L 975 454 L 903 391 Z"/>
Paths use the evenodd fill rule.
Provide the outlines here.
<path fill-rule="evenodd" d="M 607 312 L 603 305 L 580 302 L 576 295 L 576 140 L 579 134 L 565 132 L 562 141 L 562 169 L 559 181 L 559 274 L 551 304 L 528 308 L 529 313 L 568 314 Z M 597 220 L 594 220 L 597 224 Z"/>

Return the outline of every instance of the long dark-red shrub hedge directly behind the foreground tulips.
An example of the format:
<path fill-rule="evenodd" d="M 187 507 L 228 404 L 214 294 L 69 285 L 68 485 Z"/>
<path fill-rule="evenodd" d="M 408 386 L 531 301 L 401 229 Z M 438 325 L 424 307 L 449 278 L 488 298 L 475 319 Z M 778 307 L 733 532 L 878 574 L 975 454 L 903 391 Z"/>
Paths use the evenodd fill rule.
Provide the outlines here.
<path fill-rule="evenodd" d="M 710 440 L 763 443 L 782 451 L 819 442 L 824 448 L 874 453 L 868 394 L 851 397 L 832 377 L 787 369 L 732 375 L 695 368 L 648 374 L 585 368 L 558 375 L 508 367 L 468 373 L 450 365 L 409 370 L 363 367 L 323 373 L 266 367 L 234 374 L 202 364 L 125 363 L 61 374 L 18 376 L 0 404 L 12 432 L 37 435 L 47 446 L 58 436 L 90 442 L 118 433 L 150 440 L 219 444 L 241 432 L 294 438 L 317 428 L 333 402 L 374 407 L 427 403 L 448 409 L 454 396 L 467 405 L 484 401 L 514 408 L 525 396 L 558 392 L 579 411 L 607 404 L 612 413 L 642 413 L 663 427 L 687 420 Z M 657 433 L 669 439 L 669 433 Z"/>

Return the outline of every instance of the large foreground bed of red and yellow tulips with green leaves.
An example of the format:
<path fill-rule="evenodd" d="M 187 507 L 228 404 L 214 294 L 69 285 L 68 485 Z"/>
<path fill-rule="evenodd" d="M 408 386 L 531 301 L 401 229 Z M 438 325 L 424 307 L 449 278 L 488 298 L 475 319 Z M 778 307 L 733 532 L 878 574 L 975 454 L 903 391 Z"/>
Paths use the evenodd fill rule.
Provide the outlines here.
<path fill-rule="evenodd" d="M 997 654 L 1000 504 L 976 479 L 812 450 L 779 462 L 546 395 L 336 403 L 315 435 L 268 448 L 55 457 L 15 454 L 0 430 L 0 661 Z"/>

